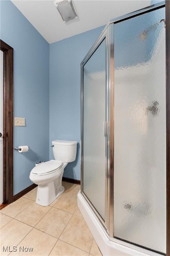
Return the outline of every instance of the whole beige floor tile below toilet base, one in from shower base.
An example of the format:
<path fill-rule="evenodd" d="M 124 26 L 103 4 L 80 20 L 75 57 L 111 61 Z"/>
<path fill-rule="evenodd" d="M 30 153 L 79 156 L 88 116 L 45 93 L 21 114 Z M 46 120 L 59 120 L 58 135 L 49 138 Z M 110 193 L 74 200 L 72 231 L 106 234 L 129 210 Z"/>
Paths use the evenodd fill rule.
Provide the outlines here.
<path fill-rule="evenodd" d="M 71 216 L 69 212 L 51 208 L 35 228 L 59 238 Z"/>

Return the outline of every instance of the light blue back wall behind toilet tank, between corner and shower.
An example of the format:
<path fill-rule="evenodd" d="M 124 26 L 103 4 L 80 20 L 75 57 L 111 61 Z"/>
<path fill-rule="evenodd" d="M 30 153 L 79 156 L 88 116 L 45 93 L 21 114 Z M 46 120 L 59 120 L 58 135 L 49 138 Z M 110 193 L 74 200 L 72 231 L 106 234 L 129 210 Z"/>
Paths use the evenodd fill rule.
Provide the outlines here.
<path fill-rule="evenodd" d="M 105 26 L 50 44 L 49 47 L 49 143 L 77 140 L 75 162 L 64 177 L 80 180 L 80 63 Z M 53 158 L 50 148 L 50 159 Z"/>

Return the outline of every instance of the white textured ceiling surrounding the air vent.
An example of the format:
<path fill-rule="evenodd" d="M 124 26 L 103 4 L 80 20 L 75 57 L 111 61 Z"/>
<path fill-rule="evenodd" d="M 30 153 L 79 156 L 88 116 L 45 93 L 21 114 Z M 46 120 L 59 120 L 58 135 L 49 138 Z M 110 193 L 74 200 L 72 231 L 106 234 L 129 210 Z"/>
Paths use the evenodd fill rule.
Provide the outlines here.
<path fill-rule="evenodd" d="M 100 27 L 110 19 L 150 5 L 150 0 L 74 0 L 79 18 L 64 23 L 51 0 L 12 2 L 48 43 Z"/>

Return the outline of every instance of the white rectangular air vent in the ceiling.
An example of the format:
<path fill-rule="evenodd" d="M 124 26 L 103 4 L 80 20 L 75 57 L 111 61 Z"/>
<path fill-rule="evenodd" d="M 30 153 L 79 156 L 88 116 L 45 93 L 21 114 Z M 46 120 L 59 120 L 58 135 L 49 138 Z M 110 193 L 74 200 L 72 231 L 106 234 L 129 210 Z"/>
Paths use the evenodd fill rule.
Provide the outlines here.
<path fill-rule="evenodd" d="M 63 21 L 69 21 L 78 17 L 72 0 L 54 1 Z"/>

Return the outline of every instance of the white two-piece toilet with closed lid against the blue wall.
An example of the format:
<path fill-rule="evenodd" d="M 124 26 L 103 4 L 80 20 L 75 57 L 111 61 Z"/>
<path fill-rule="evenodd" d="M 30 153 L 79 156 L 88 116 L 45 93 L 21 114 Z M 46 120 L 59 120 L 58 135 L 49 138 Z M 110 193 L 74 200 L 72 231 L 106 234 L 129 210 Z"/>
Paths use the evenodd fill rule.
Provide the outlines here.
<path fill-rule="evenodd" d="M 66 165 L 76 159 L 77 141 L 54 140 L 52 149 L 55 160 L 38 164 L 30 173 L 30 180 L 38 185 L 36 203 L 42 206 L 64 192 L 62 175 Z"/>

